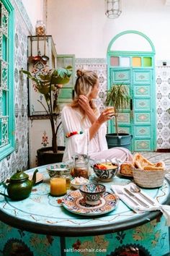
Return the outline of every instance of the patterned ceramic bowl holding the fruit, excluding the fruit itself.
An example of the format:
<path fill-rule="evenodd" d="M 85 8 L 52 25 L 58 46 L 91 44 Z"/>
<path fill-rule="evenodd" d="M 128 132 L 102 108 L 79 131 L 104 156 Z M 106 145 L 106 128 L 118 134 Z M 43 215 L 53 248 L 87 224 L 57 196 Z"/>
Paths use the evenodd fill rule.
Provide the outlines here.
<path fill-rule="evenodd" d="M 100 169 L 97 168 L 97 164 L 94 164 L 92 167 L 94 169 L 94 173 L 97 175 L 100 181 L 102 182 L 111 182 L 112 179 L 117 174 L 117 171 L 119 169 L 118 163 L 113 163 L 115 168 L 108 168 L 108 169 Z M 113 167 L 114 167 L 113 166 Z"/>

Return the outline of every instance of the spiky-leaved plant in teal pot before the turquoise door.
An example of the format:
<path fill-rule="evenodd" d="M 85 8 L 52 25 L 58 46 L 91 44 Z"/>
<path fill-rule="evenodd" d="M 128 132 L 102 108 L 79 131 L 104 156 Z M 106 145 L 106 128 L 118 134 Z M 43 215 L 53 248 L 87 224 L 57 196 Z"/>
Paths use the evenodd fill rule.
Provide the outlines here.
<path fill-rule="evenodd" d="M 118 132 L 117 117 L 122 109 L 125 109 L 130 103 L 130 95 L 125 85 L 112 85 L 112 88 L 107 92 L 105 101 L 106 106 L 113 106 L 115 109 L 115 133 L 107 134 L 108 148 L 125 147 L 130 149 L 132 135 Z"/>

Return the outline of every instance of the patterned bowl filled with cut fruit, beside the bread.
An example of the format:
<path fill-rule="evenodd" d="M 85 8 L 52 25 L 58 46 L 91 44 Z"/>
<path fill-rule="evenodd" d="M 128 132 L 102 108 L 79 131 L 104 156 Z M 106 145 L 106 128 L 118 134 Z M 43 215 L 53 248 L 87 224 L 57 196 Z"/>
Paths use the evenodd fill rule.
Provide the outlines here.
<path fill-rule="evenodd" d="M 94 173 L 102 182 L 111 182 L 117 174 L 119 163 L 112 163 L 112 161 L 94 163 L 92 166 Z"/>

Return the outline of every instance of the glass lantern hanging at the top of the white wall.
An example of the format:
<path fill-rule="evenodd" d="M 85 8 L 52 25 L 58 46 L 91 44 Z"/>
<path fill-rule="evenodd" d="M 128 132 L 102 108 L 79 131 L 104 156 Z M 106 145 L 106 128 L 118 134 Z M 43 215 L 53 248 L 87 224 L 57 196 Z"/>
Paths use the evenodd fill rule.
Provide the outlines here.
<path fill-rule="evenodd" d="M 109 19 L 118 18 L 121 13 L 121 0 L 105 0 L 105 14 Z"/>

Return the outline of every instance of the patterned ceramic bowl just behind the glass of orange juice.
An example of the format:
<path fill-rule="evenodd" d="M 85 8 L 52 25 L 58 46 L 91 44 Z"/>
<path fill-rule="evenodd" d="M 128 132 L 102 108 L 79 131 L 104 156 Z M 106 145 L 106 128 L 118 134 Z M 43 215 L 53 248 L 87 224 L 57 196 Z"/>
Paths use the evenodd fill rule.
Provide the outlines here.
<path fill-rule="evenodd" d="M 47 166 L 47 172 L 50 178 L 63 177 L 66 179 L 71 178 L 71 164 L 68 163 L 53 163 Z"/>

